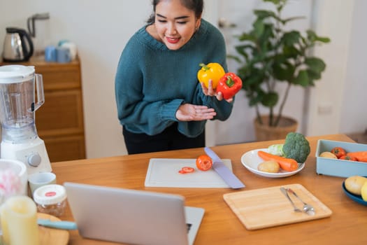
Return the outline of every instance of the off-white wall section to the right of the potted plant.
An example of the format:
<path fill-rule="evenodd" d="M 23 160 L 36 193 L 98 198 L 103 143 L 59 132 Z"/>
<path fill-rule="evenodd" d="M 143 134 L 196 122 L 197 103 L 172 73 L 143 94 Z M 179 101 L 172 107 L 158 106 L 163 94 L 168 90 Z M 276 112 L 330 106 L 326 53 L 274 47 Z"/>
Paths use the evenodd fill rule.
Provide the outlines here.
<path fill-rule="evenodd" d="M 331 36 L 325 48 L 327 71 L 310 100 L 308 134 L 354 133 L 367 129 L 367 1 L 315 1 L 315 27 Z M 332 9 L 332 11 L 328 11 Z"/>

